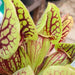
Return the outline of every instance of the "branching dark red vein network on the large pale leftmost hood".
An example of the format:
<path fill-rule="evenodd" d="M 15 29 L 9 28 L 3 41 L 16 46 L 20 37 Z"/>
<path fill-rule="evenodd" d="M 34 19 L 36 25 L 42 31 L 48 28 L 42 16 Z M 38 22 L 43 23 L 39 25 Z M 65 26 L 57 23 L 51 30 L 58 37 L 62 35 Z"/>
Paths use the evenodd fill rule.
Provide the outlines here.
<path fill-rule="evenodd" d="M 4 19 L 3 19 L 2 25 L 3 25 L 3 23 L 4 23 L 4 21 L 5 21 L 6 19 L 8 20 L 8 24 L 7 24 L 7 26 L 6 26 L 5 28 L 3 28 L 3 29 L 2 29 L 2 25 L 1 25 L 0 37 L 1 37 L 1 33 L 2 33 L 3 31 L 5 31 L 6 29 L 8 29 L 10 25 L 11 25 L 11 28 L 9 29 L 9 32 L 8 32 L 5 36 L 3 36 L 3 38 L 0 39 L 0 49 L 3 48 L 3 46 L 8 46 L 8 45 L 10 45 L 10 42 L 13 42 L 13 43 L 14 43 L 14 40 L 16 39 L 16 38 L 13 38 L 13 40 L 9 40 L 9 38 L 8 38 L 8 35 L 11 35 L 11 34 L 12 34 L 12 33 L 11 33 L 12 28 L 15 29 L 15 27 L 14 27 L 12 24 L 10 24 L 10 19 L 12 18 L 12 13 L 11 13 L 11 16 L 10 16 L 9 18 L 7 18 L 7 17 L 6 17 L 7 11 L 11 11 L 11 10 L 10 10 L 10 9 L 6 9 L 6 11 L 5 11 L 6 13 L 5 13 L 5 17 L 4 17 Z M 5 39 L 8 40 L 8 44 L 3 44 L 3 43 L 1 43 L 1 41 L 2 41 L 2 40 L 5 40 Z M 14 43 L 14 44 L 15 44 L 15 43 Z M 10 45 L 10 47 L 12 48 L 11 45 Z M 4 49 L 3 49 L 3 50 L 4 50 Z M 5 51 L 5 50 L 4 50 L 4 51 Z M 2 54 L 3 54 L 3 53 L 2 53 Z M 6 53 L 5 53 L 5 54 L 6 54 Z"/>

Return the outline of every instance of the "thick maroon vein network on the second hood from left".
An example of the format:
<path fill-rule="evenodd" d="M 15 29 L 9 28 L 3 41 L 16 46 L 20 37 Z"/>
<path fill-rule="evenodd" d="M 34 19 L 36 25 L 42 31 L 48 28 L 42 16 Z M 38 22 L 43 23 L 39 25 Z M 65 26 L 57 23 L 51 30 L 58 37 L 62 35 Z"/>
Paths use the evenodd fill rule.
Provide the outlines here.
<path fill-rule="evenodd" d="M 17 10 L 19 10 L 19 9 L 22 9 L 23 10 L 23 8 L 22 7 L 15 7 L 16 8 L 16 12 L 17 12 L 17 16 L 19 17 L 19 14 L 20 13 L 18 13 L 18 11 Z M 27 19 L 29 19 L 29 18 L 27 18 L 27 19 L 25 19 L 25 11 L 23 10 L 23 19 L 19 19 L 19 21 L 21 22 L 21 21 L 26 21 L 27 22 L 27 24 L 26 25 L 23 25 L 23 24 L 21 24 L 23 27 L 22 27 L 22 29 L 20 30 L 20 35 L 21 36 L 24 36 L 25 38 L 27 38 L 27 36 L 28 35 L 30 35 L 31 37 L 33 36 L 32 34 L 29 34 L 28 32 L 31 32 L 31 33 L 35 33 L 35 32 L 32 32 L 31 30 L 35 30 L 35 28 L 29 28 L 29 26 L 32 26 L 32 25 L 30 25 L 29 24 L 29 22 L 28 22 L 28 20 Z M 24 29 L 25 28 L 28 28 L 28 30 L 27 31 L 25 31 L 25 32 L 23 32 L 24 31 Z"/>

